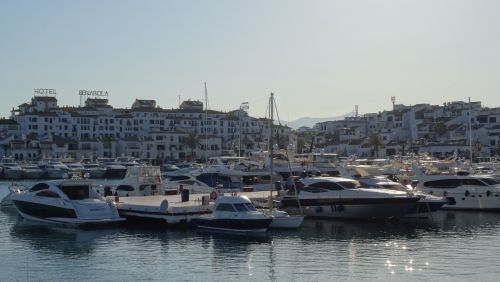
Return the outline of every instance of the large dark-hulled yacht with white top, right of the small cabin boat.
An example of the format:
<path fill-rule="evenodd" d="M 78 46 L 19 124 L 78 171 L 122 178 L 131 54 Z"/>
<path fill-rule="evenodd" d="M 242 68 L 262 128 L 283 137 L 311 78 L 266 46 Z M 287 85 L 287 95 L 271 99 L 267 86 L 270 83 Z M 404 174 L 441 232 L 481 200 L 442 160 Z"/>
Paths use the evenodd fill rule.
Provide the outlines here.
<path fill-rule="evenodd" d="M 285 210 L 302 208 L 306 216 L 344 219 L 391 219 L 404 216 L 419 198 L 404 191 L 361 188 L 341 177 L 308 177 L 281 198 Z"/>

